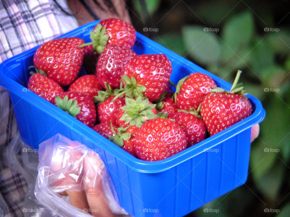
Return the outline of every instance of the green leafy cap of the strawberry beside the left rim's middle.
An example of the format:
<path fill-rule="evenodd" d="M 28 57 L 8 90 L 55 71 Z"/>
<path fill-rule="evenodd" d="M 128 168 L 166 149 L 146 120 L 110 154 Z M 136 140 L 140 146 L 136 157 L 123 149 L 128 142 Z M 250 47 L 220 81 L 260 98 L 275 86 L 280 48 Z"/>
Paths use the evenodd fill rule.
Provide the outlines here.
<path fill-rule="evenodd" d="M 60 98 L 60 96 L 56 96 L 55 103 L 57 107 L 72 115 L 74 118 L 76 118 L 76 115 L 81 112 L 81 107 L 78 106 L 78 101 L 76 99 L 69 99 L 67 95 L 63 99 Z"/>

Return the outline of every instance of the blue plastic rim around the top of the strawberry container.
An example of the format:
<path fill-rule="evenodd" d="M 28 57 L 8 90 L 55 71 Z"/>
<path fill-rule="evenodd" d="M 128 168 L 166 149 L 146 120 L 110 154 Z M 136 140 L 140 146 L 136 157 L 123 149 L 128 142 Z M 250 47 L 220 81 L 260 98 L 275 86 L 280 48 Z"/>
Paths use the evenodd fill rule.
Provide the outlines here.
<path fill-rule="evenodd" d="M 95 24 L 97 24 L 99 21 L 94 21 L 88 24 L 85 24 L 76 30 L 70 31 L 62 36 L 59 36 L 57 38 L 63 38 L 63 37 L 73 37 L 76 35 L 76 33 L 83 32 L 84 29 L 89 29 L 90 27 L 94 27 Z M 89 33 L 88 33 L 89 34 Z M 218 86 L 230 90 L 231 84 L 225 82 L 221 78 L 215 76 L 214 74 L 211 74 L 210 72 L 206 71 L 205 69 L 197 66 L 196 64 L 188 61 L 187 59 L 181 57 L 180 55 L 175 54 L 174 52 L 170 51 L 169 49 L 164 48 L 163 46 L 159 45 L 158 43 L 148 39 L 147 37 L 143 36 L 140 33 L 136 33 L 137 39 L 136 44 L 138 44 L 141 40 L 142 43 L 146 46 L 150 46 L 152 48 L 155 48 L 156 50 L 165 50 L 167 57 L 172 59 L 179 59 L 180 62 L 184 63 L 188 68 L 194 68 L 195 71 L 198 70 L 201 73 L 207 74 L 210 76 Z M 80 132 L 86 131 L 87 139 L 94 140 L 94 137 L 97 140 L 105 139 L 105 137 L 102 137 L 100 134 L 96 133 L 91 128 L 85 126 L 80 121 L 77 121 L 75 118 L 73 118 L 70 115 L 67 115 L 66 112 L 62 111 L 61 109 L 57 108 L 55 105 L 47 102 L 45 99 L 42 99 L 40 96 L 37 96 L 35 93 L 28 91 L 25 86 L 15 82 L 11 79 L 11 77 L 14 76 L 13 72 L 9 69 L 9 67 L 12 67 L 15 64 L 20 64 L 18 59 L 21 59 L 22 57 L 26 56 L 27 54 L 34 53 L 36 49 L 39 46 L 32 48 L 30 50 L 27 50 L 19 55 L 15 55 L 12 58 L 9 58 L 5 61 L 3 61 L 0 64 L 0 71 L 1 71 L 1 86 L 7 88 L 10 92 L 15 94 L 21 94 L 23 96 L 23 99 L 30 101 L 31 104 L 39 107 L 40 102 L 43 103 L 47 107 L 47 113 L 51 115 L 51 112 L 53 112 L 53 115 L 56 116 L 58 119 L 60 119 L 61 122 L 71 123 L 69 127 L 74 128 Z M 133 48 L 134 49 L 134 48 Z M 27 69 L 23 69 L 27 70 Z M 12 74 L 7 74 L 12 73 Z M 16 76 L 15 76 L 16 77 Z M 15 78 L 14 77 L 14 78 Z M 13 87 L 13 88 L 11 88 Z M 252 105 L 253 105 L 253 114 L 249 117 L 243 119 L 242 121 L 239 121 L 238 123 L 234 124 L 233 126 L 219 132 L 218 134 L 215 134 L 214 136 L 208 137 L 207 139 L 197 143 L 196 145 L 189 147 L 185 150 L 183 150 L 180 153 L 177 153 L 167 159 L 160 160 L 160 161 L 154 161 L 154 162 L 147 162 L 140 159 L 137 159 L 133 156 L 131 156 L 129 153 L 124 151 L 123 149 L 116 146 L 114 143 L 108 141 L 108 145 L 103 145 L 101 143 L 98 144 L 100 148 L 104 149 L 105 151 L 109 152 L 114 157 L 118 158 L 121 162 L 126 164 L 128 167 L 130 167 L 132 170 L 140 171 L 144 173 L 158 173 L 161 171 L 168 170 L 188 159 L 191 159 L 192 157 L 198 155 L 201 152 L 206 151 L 207 149 L 210 149 L 219 143 L 222 143 L 224 140 L 227 140 L 230 137 L 235 136 L 236 134 L 239 134 L 242 131 L 247 130 L 248 128 L 252 127 L 253 125 L 261 122 L 265 117 L 265 110 L 262 106 L 262 103 L 256 99 L 254 96 L 248 94 L 247 97 L 249 97 Z M 88 137 L 88 135 L 90 137 Z M 42 141 L 41 141 L 42 142 Z M 39 142 L 39 143 L 41 143 Z M 39 144 L 38 143 L 38 144 Z M 38 145 L 37 144 L 37 145 Z"/>

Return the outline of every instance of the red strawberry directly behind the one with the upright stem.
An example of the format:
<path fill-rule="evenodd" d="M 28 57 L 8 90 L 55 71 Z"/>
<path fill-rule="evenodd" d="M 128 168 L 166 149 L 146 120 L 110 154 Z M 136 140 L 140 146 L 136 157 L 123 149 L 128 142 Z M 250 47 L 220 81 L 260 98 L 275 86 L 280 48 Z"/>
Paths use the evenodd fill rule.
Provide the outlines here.
<path fill-rule="evenodd" d="M 177 107 L 185 110 L 197 109 L 204 97 L 211 93 L 210 88 L 216 86 L 214 80 L 199 72 L 182 78 L 174 94 Z"/>

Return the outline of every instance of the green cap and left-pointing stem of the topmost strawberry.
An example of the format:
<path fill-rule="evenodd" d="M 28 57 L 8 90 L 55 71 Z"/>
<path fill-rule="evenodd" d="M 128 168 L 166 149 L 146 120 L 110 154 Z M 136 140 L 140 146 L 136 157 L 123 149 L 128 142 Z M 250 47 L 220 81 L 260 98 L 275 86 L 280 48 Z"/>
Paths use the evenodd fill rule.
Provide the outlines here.
<path fill-rule="evenodd" d="M 106 27 L 102 27 L 101 24 L 97 24 L 95 29 L 90 32 L 90 39 L 92 40 L 92 42 L 82 44 L 79 46 L 79 48 L 87 45 L 93 45 L 93 50 L 101 54 L 109 39 L 109 35 L 105 34 L 105 32 Z"/>

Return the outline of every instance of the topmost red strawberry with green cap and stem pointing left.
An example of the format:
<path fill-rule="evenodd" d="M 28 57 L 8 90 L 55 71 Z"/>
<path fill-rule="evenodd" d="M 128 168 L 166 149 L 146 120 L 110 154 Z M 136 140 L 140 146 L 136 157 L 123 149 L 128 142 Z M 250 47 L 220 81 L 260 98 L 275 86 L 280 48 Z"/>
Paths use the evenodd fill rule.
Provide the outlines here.
<path fill-rule="evenodd" d="M 90 39 L 92 42 L 82 46 L 93 45 L 94 51 L 99 54 L 108 44 L 118 44 L 131 49 L 136 41 L 136 30 L 124 20 L 109 18 L 102 20 L 94 27 L 90 33 Z"/>

